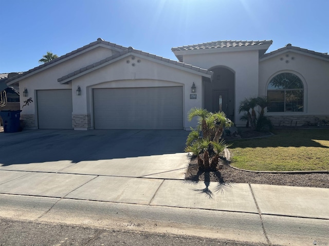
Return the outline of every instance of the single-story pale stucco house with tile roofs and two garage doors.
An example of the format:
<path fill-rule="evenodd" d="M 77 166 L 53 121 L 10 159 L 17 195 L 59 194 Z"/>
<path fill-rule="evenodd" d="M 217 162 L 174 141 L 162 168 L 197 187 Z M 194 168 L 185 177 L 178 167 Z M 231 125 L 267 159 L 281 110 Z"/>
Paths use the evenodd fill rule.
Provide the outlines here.
<path fill-rule="evenodd" d="M 185 129 L 191 108 L 220 108 L 244 126 L 239 104 L 267 95 L 274 125 L 329 120 L 329 55 L 272 40 L 218 41 L 172 48 L 178 61 L 98 38 L 9 78 L 20 86 L 30 129 Z M 25 92 L 23 95 L 23 91 Z M 28 94 L 28 95 L 26 95 Z"/>

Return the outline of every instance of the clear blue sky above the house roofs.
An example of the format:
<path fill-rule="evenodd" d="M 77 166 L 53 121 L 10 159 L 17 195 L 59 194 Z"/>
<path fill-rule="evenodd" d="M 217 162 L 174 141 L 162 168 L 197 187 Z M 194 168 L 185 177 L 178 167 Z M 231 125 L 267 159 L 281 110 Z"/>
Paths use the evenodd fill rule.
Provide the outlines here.
<path fill-rule="evenodd" d="M 172 47 L 271 39 L 329 52 L 328 0 L 0 0 L 0 73 L 94 42 L 176 59 Z"/>

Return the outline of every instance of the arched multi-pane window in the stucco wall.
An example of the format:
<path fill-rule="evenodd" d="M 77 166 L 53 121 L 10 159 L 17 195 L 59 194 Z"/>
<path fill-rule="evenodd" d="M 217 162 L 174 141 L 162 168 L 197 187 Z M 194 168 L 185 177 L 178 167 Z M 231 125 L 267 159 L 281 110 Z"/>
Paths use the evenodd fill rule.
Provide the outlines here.
<path fill-rule="evenodd" d="M 304 86 L 293 73 L 280 73 L 273 77 L 267 87 L 269 105 L 267 112 L 303 112 Z"/>

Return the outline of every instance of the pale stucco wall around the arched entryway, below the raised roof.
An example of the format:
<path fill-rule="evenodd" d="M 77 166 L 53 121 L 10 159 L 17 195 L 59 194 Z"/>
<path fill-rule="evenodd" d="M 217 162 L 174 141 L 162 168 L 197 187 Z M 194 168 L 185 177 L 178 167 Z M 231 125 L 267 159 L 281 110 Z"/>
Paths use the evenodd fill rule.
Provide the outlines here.
<path fill-rule="evenodd" d="M 257 96 L 259 94 L 258 50 L 184 55 L 183 60 L 187 64 L 192 64 L 194 66 L 205 69 L 211 69 L 217 66 L 221 66 L 228 68 L 234 72 L 234 123 L 236 126 L 245 126 L 245 122 L 240 120 L 239 105 L 240 102 L 246 97 Z"/>

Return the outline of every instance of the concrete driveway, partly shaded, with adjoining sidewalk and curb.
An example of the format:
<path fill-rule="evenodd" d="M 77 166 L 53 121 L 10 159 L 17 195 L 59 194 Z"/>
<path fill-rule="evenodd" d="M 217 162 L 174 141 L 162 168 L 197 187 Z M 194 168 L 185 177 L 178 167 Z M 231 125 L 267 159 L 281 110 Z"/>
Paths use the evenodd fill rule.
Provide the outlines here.
<path fill-rule="evenodd" d="M 184 180 L 186 131 L 0 133 L 0 216 L 329 245 L 329 189 Z"/>

